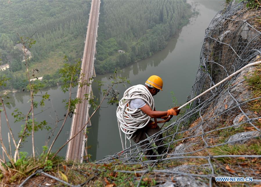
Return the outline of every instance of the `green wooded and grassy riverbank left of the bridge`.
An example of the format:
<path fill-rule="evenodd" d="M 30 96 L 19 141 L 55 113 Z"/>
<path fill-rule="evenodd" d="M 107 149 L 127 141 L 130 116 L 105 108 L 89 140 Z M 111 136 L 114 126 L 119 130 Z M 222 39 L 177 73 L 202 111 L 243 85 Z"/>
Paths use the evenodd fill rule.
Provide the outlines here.
<path fill-rule="evenodd" d="M 81 58 L 91 1 L 3 0 L 0 3 L 1 63 L 10 65 L 1 74 L 12 80 L 7 88 L 22 89 L 26 86 L 21 51 L 14 48 L 19 41 L 17 33 L 36 40 L 29 49 L 33 55 L 30 69 L 40 70 L 37 76 L 44 76 L 46 87 L 56 85 L 64 55 L 72 63 Z"/>

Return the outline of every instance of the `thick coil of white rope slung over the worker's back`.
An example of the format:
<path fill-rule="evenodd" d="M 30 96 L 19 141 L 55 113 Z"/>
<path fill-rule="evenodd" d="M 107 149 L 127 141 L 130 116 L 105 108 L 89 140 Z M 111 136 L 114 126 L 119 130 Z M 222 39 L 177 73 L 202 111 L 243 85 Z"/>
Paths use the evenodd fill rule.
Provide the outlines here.
<path fill-rule="evenodd" d="M 132 86 L 124 92 L 123 98 L 119 101 L 116 114 L 119 131 L 122 131 L 125 136 L 128 135 L 128 139 L 131 139 L 133 133 L 136 132 L 137 129 L 145 127 L 151 119 L 151 117 L 142 112 L 141 109 L 130 108 L 130 101 L 132 99 L 142 99 L 152 110 L 154 109 L 154 99 L 150 91 L 144 85 L 138 84 Z"/>

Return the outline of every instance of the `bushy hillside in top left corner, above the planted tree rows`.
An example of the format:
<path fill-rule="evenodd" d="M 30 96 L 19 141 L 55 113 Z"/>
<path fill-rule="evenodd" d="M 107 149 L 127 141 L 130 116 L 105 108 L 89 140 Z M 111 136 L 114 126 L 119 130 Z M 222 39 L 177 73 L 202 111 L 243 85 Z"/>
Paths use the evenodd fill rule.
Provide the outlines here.
<path fill-rule="evenodd" d="M 2 0 L 0 26 L 1 33 L 12 33 L 21 26 L 34 23 L 35 21 L 46 21 L 51 17 L 61 16 L 61 13 L 69 10 L 82 9 L 86 0 L 77 1 L 22 1 Z"/>

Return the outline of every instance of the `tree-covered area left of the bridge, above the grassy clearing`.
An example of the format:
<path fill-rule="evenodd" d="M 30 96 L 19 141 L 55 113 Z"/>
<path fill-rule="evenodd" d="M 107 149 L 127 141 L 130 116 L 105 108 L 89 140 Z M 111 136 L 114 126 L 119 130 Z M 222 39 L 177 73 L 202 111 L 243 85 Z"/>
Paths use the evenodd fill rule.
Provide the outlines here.
<path fill-rule="evenodd" d="M 37 41 L 31 49 L 34 61 L 48 57 L 49 52 L 57 48 L 65 48 L 66 51 L 63 52 L 66 53 L 75 50 L 70 49 L 70 45 L 66 48 L 66 45 L 60 44 L 74 41 L 81 36 L 82 42 L 78 42 L 83 46 L 88 7 L 90 1 L 84 0 L 1 1 L 1 50 L 6 50 L 6 40 L 11 40 L 9 46 L 19 41 L 17 33 L 24 37 L 32 36 Z M 3 63 L 6 60 L 3 55 L 2 60 Z"/>

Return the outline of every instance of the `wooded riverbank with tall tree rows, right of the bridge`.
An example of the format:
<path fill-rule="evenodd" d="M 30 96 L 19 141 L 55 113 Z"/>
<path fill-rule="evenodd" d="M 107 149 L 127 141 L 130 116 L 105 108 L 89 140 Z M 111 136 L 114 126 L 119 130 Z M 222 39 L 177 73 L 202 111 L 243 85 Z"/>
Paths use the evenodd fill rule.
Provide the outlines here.
<path fill-rule="evenodd" d="M 162 50 L 188 22 L 189 8 L 184 1 L 102 1 L 96 71 L 110 72 Z M 117 54 L 119 49 L 126 52 Z"/>

